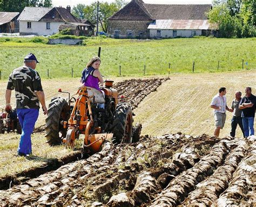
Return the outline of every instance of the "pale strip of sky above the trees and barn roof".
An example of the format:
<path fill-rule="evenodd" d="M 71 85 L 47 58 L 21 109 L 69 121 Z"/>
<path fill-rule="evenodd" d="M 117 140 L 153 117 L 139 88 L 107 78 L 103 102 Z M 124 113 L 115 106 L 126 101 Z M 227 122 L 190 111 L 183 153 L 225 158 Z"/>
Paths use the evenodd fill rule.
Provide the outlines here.
<path fill-rule="evenodd" d="M 100 0 L 100 2 L 114 2 L 114 0 Z M 129 0 L 126 0 L 129 2 Z M 212 0 L 143 0 L 148 4 L 211 4 Z M 71 7 L 76 6 L 77 4 L 89 5 L 96 0 L 52 0 L 53 6 L 62 6 L 66 7 L 71 5 Z"/>

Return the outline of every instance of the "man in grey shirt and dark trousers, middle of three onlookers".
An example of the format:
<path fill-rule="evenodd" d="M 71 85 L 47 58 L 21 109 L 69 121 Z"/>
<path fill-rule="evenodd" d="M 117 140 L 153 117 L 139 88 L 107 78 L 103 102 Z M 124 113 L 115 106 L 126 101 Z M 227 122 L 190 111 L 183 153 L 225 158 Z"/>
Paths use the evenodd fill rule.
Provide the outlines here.
<path fill-rule="evenodd" d="M 242 130 L 242 135 L 245 137 L 244 133 L 244 127 L 242 127 L 242 118 L 241 118 L 241 113 L 242 110 L 239 109 L 239 103 L 241 101 L 241 95 L 242 93 L 240 91 L 235 92 L 235 99 L 232 101 L 232 111 L 233 111 L 233 118 L 231 119 L 231 132 L 230 136 L 235 137 L 235 129 L 237 129 L 237 125 Z"/>

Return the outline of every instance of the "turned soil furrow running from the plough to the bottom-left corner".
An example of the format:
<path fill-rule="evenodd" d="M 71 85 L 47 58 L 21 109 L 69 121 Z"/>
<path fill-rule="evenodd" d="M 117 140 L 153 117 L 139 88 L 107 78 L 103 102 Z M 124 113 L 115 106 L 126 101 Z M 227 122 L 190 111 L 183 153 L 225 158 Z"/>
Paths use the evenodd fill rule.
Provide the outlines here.
<path fill-rule="evenodd" d="M 48 189 L 48 193 L 54 191 L 61 185 L 76 180 L 78 176 L 83 176 L 90 172 L 91 168 L 93 168 L 93 164 L 99 164 L 99 161 L 103 159 L 107 160 L 107 154 L 111 152 L 112 148 L 113 145 L 110 142 L 106 142 L 102 151 L 92 155 L 87 160 L 64 165 L 52 173 L 39 176 L 38 178 L 25 182 L 23 185 L 17 185 L 9 190 L 0 191 L 0 203 L 2 203 L 3 206 L 8 204 L 15 205 L 22 201 L 26 201 L 30 197 L 39 197 L 40 195 L 45 194 L 45 189 Z M 108 164 L 108 162 L 106 162 L 106 164 Z M 52 185 L 52 183 L 58 184 Z M 23 191 L 23 189 L 26 189 L 26 191 Z M 31 203 L 30 200 L 28 202 Z"/>

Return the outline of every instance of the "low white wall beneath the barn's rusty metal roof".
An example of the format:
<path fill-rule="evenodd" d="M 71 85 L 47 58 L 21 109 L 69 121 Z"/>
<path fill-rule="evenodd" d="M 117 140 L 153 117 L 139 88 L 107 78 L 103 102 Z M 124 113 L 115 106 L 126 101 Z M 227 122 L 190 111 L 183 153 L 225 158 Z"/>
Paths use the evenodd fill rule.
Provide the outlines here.
<path fill-rule="evenodd" d="M 160 30 L 160 29 L 159 29 Z M 172 38 L 173 30 L 160 30 L 161 38 Z M 177 36 L 180 37 L 192 37 L 192 36 L 200 36 L 202 34 L 201 30 L 176 30 Z M 196 32 L 196 34 L 194 34 Z M 157 37 L 157 30 L 150 29 L 150 38 Z"/>

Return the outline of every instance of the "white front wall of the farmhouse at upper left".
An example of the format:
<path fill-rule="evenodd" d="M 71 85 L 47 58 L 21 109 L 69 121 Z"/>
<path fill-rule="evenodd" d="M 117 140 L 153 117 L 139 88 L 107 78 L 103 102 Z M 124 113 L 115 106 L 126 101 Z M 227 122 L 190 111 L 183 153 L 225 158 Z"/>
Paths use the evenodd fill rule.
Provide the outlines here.
<path fill-rule="evenodd" d="M 27 22 L 29 21 L 19 21 L 19 32 L 20 33 L 34 33 L 37 35 L 51 35 L 58 32 L 58 27 L 63 22 L 51 22 L 50 30 L 46 30 L 46 22 L 31 22 L 31 28 L 27 28 Z"/>

